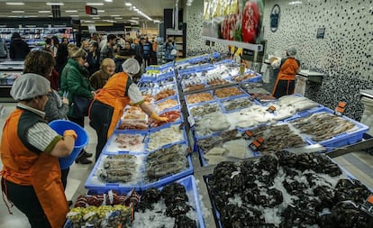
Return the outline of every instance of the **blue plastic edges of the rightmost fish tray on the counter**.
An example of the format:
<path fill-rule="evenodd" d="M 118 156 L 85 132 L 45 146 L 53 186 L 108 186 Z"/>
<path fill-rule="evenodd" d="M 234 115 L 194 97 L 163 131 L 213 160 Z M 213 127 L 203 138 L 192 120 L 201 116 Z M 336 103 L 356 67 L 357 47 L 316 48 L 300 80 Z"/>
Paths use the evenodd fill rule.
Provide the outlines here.
<path fill-rule="evenodd" d="M 318 108 L 318 109 L 315 109 L 315 110 L 308 110 L 308 111 L 304 111 L 300 114 L 295 114 L 293 118 L 289 118 L 287 119 L 286 122 L 290 122 L 290 121 L 294 121 L 296 119 L 299 119 L 299 118 L 304 118 L 310 114 L 317 114 L 317 113 L 329 113 L 329 114 L 333 114 L 334 111 L 332 111 L 332 109 L 330 108 L 327 108 L 327 107 L 323 107 L 323 108 Z M 353 131 L 353 132 L 343 132 L 343 133 L 340 133 L 334 137 L 332 137 L 331 139 L 329 140 L 325 140 L 325 141 L 313 141 L 311 140 L 309 137 L 306 136 L 306 140 L 307 142 L 309 142 L 310 144 L 321 144 L 323 145 L 324 147 L 327 148 L 327 150 L 332 150 L 332 149 L 335 149 L 335 148 L 338 148 L 338 147 L 343 147 L 343 146 L 346 146 L 346 145 L 351 145 L 355 142 L 358 142 L 358 141 L 361 141 L 362 138 L 363 138 L 363 134 L 365 132 L 368 132 L 368 126 L 365 125 L 365 124 L 362 124 L 362 123 L 359 123 L 355 120 L 352 120 L 350 119 L 349 117 L 347 116 L 344 116 L 342 115 L 341 118 L 351 122 L 351 123 L 354 123 L 355 126 L 358 128 L 356 131 Z"/>

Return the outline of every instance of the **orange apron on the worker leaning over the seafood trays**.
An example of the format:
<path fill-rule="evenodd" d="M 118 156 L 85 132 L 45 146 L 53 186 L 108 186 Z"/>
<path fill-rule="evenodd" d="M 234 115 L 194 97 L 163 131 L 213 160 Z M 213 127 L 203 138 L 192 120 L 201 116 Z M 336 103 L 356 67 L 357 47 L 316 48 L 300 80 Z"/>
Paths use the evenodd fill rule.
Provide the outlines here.
<path fill-rule="evenodd" d="M 114 108 L 112 122 L 110 123 L 109 130 L 107 131 L 107 138 L 114 132 L 116 123 L 123 115 L 123 109 L 130 103 L 130 97 L 125 96 L 127 87 L 128 75 L 124 72 L 116 73 L 109 78 L 105 87 L 100 89 L 95 99 L 105 105 Z"/>

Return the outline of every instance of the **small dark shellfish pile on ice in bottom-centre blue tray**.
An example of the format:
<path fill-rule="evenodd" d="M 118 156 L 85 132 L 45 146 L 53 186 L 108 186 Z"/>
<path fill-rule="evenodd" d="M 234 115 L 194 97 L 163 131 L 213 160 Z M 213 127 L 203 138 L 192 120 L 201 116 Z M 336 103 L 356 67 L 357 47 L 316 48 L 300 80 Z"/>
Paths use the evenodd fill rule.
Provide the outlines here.
<path fill-rule="evenodd" d="M 163 206 L 159 206 L 159 202 L 166 205 L 166 209 L 159 208 Z M 157 205 L 158 206 L 157 206 Z M 171 183 L 168 184 L 166 187 L 163 187 L 161 191 L 157 188 L 151 187 L 147 189 L 141 196 L 140 203 L 136 205 L 137 219 L 135 220 L 135 224 L 138 222 L 147 221 L 147 218 L 144 218 L 146 211 L 157 211 L 156 216 L 160 216 L 160 212 L 167 217 L 172 217 L 174 219 L 174 225 L 170 227 L 180 227 L 180 228 L 194 228 L 196 226 L 196 220 L 190 218 L 190 214 L 194 213 L 194 208 L 189 205 L 189 198 L 187 196 L 187 190 L 184 186 L 179 183 Z M 161 211 L 159 211 L 161 210 Z M 151 215 L 150 215 L 151 216 Z M 150 218 L 150 221 L 154 219 L 154 215 Z M 163 224 L 161 226 L 155 227 L 166 227 L 167 222 L 163 220 Z M 168 225 L 172 225 L 169 224 Z M 144 227 L 144 226 L 138 226 Z M 154 227 L 154 226 L 152 226 Z"/>

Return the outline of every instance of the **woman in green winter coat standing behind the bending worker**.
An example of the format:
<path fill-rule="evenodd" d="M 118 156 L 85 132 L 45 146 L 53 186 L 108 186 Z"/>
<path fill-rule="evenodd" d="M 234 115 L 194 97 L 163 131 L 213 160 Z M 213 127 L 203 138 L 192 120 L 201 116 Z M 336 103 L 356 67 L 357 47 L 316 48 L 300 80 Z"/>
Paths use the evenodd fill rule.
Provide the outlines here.
<path fill-rule="evenodd" d="M 88 74 L 88 70 L 85 67 L 86 50 L 74 48 L 69 53 L 70 59 L 68 59 L 68 64 L 62 70 L 60 91 L 62 93 L 68 92 L 68 100 L 70 101 L 68 120 L 84 128 L 84 116 L 77 116 L 77 110 L 74 110 L 76 108 L 74 105 L 74 96 L 85 96 L 92 99 L 95 94 L 95 88 L 89 85 L 89 81 L 86 78 Z M 82 150 L 75 161 L 77 163 L 89 164 L 92 161 L 86 158 L 91 156 L 91 153 Z"/>

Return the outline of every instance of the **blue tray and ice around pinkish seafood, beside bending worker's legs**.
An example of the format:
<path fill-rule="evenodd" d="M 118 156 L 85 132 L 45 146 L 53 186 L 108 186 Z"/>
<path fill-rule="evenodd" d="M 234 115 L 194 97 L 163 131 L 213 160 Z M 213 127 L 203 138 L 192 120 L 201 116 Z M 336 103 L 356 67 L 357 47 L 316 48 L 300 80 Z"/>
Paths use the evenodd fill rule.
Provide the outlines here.
<path fill-rule="evenodd" d="M 142 143 L 143 150 L 141 150 L 141 146 L 139 150 L 126 150 L 124 148 L 119 148 L 118 143 L 115 142 L 115 137 L 117 137 L 118 134 L 140 134 L 143 136 Z M 145 153 L 148 145 L 148 132 L 143 131 L 135 131 L 135 130 L 114 130 L 113 134 L 110 136 L 110 138 L 107 140 L 105 147 L 103 149 L 103 152 L 110 153 L 110 152 L 131 152 L 133 154 L 139 154 L 139 153 Z"/>

